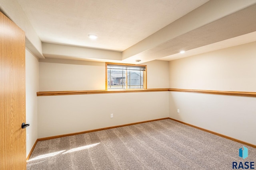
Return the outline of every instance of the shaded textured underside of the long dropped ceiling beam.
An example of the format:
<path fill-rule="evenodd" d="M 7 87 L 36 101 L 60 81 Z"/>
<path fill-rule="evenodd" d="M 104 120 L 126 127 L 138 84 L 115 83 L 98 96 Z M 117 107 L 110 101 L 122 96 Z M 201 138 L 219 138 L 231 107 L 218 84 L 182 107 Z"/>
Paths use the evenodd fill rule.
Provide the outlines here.
<path fill-rule="evenodd" d="M 246 35 L 254 31 L 256 31 L 256 5 L 230 14 L 220 20 L 213 21 L 188 33 L 184 33 L 156 47 L 138 53 L 132 56 L 132 58 L 134 60 L 140 59 L 145 61 L 151 60 L 150 57 L 154 59 L 164 57 L 165 60 L 168 60 L 166 56 L 177 54 L 182 50 L 196 49 L 240 35 Z M 251 35 L 252 37 L 247 36 L 246 39 L 256 41 L 255 34 Z M 243 43 L 244 41 L 240 42 Z"/>

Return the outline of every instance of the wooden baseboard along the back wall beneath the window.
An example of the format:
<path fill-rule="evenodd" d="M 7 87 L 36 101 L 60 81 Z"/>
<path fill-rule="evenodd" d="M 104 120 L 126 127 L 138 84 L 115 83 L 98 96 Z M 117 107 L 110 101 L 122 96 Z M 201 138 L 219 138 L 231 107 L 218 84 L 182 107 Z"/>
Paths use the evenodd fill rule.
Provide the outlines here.
<path fill-rule="evenodd" d="M 140 123 L 147 123 L 147 122 L 151 122 L 151 121 L 158 121 L 158 120 L 164 120 L 164 119 L 169 119 L 169 117 L 165 117 L 165 118 L 161 118 L 161 119 L 148 120 L 148 121 L 140 121 L 140 122 L 129 123 L 129 124 L 125 124 L 125 125 L 104 127 L 104 128 L 100 128 L 100 129 L 93 129 L 93 130 L 82 131 L 82 132 L 77 132 L 77 133 L 69 133 L 69 134 L 65 134 L 65 135 L 57 135 L 57 136 L 51 136 L 51 137 L 44 137 L 44 138 L 39 138 L 39 139 L 37 139 L 37 141 L 44 141 L 44 140 L 49 140 L 49 139 L 56 139 L 56 138 L 67 137 L 67 136 L 72 136 L 72 135 L 80 135 L 80 134 L 83 134 L 83 133 L 90 133 L 90 132 L 96 132 L 96 131 L 103 131 L 103 130 L 113 129 L 113 128 L 117 128 L 117 127 L 124 127 L 124 126 L 130 126 L 130 125 L 137 125 L 137 124 L 140 124 Z"/>

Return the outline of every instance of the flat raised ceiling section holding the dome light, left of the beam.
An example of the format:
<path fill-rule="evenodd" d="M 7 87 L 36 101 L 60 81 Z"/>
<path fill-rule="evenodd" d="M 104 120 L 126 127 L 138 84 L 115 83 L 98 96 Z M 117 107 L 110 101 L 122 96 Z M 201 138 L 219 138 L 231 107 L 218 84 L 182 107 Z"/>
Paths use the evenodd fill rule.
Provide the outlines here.
<path fill-rule="evenodd" d="M 17 1 L 42 42 L 124 51 L 208 0 Z"/>

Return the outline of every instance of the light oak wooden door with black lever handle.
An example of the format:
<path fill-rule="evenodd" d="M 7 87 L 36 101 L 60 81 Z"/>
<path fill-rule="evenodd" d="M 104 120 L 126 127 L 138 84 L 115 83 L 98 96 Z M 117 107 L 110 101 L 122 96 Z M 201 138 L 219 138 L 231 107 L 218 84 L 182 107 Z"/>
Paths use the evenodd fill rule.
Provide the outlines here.
<path fill-rule="evenodd" d="M 25 33 L 0 12 L 0 170 L 26 170 Z"/>

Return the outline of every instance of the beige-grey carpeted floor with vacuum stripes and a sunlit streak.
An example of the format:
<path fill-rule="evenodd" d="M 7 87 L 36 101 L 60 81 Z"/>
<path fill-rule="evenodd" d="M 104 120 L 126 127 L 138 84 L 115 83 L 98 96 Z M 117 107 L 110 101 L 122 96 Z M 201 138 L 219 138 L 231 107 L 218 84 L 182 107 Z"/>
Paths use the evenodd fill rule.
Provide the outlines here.
<path fill-rule="evenodd" d="M 39 141 L 27 170 L 231 170 L 234 161 L 256 164 L 256 149 L 244 145 L 243 160 L 242 146 L 166 119 Z"/>

